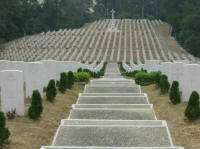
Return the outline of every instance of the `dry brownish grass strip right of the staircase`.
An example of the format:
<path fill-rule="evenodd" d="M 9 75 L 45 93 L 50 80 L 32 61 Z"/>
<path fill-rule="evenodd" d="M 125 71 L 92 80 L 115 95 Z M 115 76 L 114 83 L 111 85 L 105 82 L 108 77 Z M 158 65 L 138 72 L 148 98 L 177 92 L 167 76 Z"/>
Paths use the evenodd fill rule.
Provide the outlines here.
<path fill-rule="evenodd" d="M 173 105 L 169 95 L 160 95 L 155 85 L 142 87 L 142 91 L 148 94 L 150 103 L 154 105 L 157 119 L 167 121 L 174 145 L 184 146 L 185 149 L 199 149 L 200 118 L 188 121 L 184 117 L 187 103 Z"/>

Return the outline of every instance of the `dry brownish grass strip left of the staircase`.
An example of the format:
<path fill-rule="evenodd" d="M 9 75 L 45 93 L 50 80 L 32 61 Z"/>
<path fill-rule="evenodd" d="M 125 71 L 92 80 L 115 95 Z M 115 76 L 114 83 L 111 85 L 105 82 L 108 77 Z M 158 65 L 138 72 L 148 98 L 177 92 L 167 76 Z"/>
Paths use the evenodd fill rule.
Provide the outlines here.
<path fill-rule="evenodd" d="M 51 145 L 61 119 L 67 118 L 71 105 L 76 103 L 78 93 L 83 89 L 83 86 L 74 85 L 73 90 L 67 90 L 66 94 L 58 93 L 53 103 L 45 97 L 44 111 L 37 121 L 28 118 L 30 101 L 26 100 L 26 116 L 7 120 L 11 136 L 3 149 L 39 149 L 42 145 Z"/>

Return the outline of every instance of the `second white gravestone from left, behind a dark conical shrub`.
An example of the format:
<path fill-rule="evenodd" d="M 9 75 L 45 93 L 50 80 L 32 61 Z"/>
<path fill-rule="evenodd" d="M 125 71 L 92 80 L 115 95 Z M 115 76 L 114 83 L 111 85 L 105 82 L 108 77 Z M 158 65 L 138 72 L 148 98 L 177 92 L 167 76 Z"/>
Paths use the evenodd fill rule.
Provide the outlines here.
<path fill-rule="evenodd" d="M 24 80 L 26 85 L 26 97 L 31 97 L 34 90 L 38 90 L 40 95 L 43 96 L 44 73 L 42 63 L 28 62 L 24 67 Z"/>

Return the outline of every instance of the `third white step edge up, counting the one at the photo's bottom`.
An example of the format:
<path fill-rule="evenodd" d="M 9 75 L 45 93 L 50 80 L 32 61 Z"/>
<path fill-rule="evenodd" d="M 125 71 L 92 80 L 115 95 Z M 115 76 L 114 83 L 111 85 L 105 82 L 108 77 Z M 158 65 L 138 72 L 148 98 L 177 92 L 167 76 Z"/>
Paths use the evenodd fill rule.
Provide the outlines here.
<path fill-rule="evenodd" d="M 73 104 L 73 109 L 152 109 L 152 104 Z"/>

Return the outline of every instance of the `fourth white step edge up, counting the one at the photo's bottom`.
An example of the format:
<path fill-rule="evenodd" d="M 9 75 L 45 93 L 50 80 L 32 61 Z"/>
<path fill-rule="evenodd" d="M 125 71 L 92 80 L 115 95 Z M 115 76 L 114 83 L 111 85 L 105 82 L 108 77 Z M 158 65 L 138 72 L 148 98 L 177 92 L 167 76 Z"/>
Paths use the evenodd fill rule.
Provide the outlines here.
<path fill-rule="evenodd" d="M 146 96 L 145 93 L 80 93 L 79 97 L 129 97 L 129 96 Z"/>

